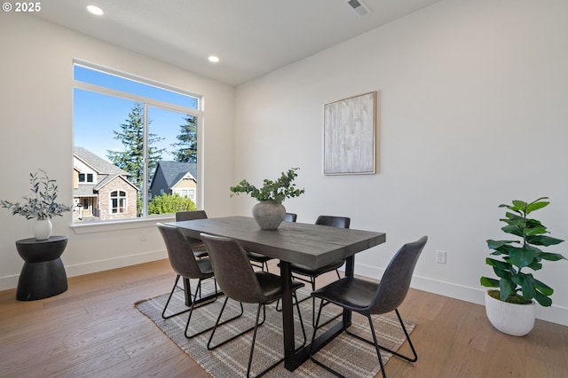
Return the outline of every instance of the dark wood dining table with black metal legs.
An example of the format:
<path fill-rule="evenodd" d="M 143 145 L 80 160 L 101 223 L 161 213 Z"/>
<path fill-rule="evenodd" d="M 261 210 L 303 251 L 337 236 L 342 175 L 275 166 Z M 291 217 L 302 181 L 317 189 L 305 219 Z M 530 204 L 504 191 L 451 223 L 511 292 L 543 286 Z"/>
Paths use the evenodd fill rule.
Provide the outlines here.
<path fill-rule="evenodd" d="M 292 308 L 292 273 L 290 263 L 319 268 L 345 258 L 345 275 L 353 276 L 354 256 L 358 252 L 382 244 L 383 232 L 343 229 L 317 224 L 283 222 L 272 231 L 260 230 L 252 217 L 217 217 L 169 223 L 185 235 L 200 239 L 201 232 L 233 238 L 248 251 L 280 260 L 282 280 L 282 328 L 284 336 L 284 366 L 293 371 L 310 358 L 310 344 L 296 351 L 294 343 L 294 313 Z M 314 350 L 319 350 L 344 327 L 351 324 L 351 312 L 343 311 L 342 321 L 319 335 Z"/>

